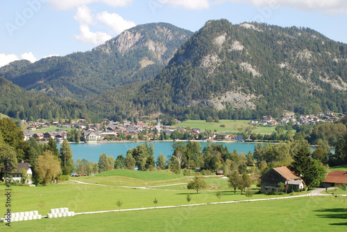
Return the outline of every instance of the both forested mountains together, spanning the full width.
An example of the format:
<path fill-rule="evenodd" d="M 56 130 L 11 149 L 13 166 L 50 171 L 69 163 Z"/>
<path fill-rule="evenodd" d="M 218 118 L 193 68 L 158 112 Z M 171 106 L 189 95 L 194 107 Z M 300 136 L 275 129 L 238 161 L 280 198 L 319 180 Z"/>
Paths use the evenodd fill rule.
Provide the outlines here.
<path fill-rule="evenodd" d="M 309 28 L 221 19 L 194 34 L 136 26 L 92 51 L 12 62 L 0 77 L 101 117 L 249 119 L 347 111 L 346 64 L 346 44 Z"/>

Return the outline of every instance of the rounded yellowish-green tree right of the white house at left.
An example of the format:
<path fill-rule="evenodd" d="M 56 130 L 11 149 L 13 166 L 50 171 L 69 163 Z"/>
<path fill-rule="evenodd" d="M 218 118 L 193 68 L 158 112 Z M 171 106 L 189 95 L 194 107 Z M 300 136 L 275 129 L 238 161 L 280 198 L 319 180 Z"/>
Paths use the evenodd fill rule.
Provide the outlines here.
<path fill-rule="evenodd" d="M 54 156 L 49 150 L 42 152 L 42 155 L 37 158 L 35 173 L 43 184 L 51 183 L 61 173 L 58 157 Z"/>

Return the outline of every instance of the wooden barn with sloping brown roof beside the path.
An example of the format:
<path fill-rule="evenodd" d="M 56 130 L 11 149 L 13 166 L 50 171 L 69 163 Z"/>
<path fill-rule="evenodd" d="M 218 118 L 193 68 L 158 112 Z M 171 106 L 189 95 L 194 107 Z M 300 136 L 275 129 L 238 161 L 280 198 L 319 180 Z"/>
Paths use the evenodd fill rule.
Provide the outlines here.
<path fill-rule="evenodd" d="M 272 168 L 261 177 L 262 193 L 280 190 L 278 183 L 284 183 L 287 190 L 298 191 L 305 185 L 301 177 L 297 177 L 288 167 Z"/>

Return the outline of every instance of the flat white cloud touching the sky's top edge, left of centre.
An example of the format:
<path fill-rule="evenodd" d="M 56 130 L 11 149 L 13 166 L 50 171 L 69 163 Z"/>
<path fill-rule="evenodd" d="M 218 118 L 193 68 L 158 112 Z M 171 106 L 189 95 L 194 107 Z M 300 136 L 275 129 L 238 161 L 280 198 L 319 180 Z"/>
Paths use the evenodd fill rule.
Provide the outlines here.
<path fill-rule="evenodd" d="M 128 6 L 133 0 L 46 0 L 54 4 L 58 10 L 68 10 L 76 6 L 85 6 L 90 3 L 105 3 L 108 6 Z"/>

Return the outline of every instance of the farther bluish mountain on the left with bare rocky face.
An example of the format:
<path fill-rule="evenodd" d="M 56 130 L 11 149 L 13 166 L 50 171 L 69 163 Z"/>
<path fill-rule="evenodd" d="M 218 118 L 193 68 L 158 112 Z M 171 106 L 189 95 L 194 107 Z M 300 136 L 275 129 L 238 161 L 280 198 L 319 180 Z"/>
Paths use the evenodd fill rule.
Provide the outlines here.
<path fill-rule="evenodd" d="M 26 90 L 84 100 L 124 84 L 153 79 L 191 35 L 171 24 L 139 25 L 92 51 L 47 57 L 33 64 L 12 62 L 0 69 L 0 77 Z"/>

